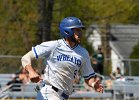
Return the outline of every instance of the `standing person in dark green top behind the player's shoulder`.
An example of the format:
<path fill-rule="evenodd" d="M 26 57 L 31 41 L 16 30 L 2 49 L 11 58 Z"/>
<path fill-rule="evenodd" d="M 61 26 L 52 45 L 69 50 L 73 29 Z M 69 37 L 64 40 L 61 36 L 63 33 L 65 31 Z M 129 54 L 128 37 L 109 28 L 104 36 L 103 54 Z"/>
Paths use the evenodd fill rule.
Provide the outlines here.
<path fill-rule="evenodd" d="M 101 46 L 98 46 L 98 50 L 93 54 L 93 59 L 96 60 L 96 71 L 103 75 L 104 54 L 102 52 Z"/>

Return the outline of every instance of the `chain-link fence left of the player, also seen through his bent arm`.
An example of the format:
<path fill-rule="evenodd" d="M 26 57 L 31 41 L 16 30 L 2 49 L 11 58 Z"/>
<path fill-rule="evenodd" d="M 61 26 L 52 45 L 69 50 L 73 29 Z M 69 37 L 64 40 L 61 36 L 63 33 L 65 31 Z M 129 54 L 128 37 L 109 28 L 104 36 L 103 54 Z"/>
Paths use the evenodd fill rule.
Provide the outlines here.
<path fill-rule="evenodd" d="M 22 56 L 0 55 L 0 73 L 18 73 L 22 68 L 21 57 Z M 42 59 L 33 60 L 32 62 L 32 66 L 37 68 L 40 73 L 44 68 L 43 65 Z"/>

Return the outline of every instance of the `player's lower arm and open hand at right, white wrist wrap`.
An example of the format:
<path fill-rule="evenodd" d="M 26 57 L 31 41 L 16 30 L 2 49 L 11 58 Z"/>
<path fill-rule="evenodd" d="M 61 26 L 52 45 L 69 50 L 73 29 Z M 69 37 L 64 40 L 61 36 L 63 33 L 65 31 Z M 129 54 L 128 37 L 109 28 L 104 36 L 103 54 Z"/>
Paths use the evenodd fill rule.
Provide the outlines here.
<path fill-rule="evenodd" d="M 89 79 L 85 79 L 85 82 L 95 91 L 103 93 L 103 85 L 101 84 L 100 80 L 95 80 L 95 77 L 91 77 Z"/>

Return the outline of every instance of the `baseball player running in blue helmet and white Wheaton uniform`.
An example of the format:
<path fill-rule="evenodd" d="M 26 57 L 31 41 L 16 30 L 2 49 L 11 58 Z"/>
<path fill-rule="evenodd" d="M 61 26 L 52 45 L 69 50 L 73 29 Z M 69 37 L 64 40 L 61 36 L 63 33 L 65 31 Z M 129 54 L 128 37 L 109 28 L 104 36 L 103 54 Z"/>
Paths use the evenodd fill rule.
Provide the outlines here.
<path fill-rule="evenodd" d="M 44 57 L 47 62 L 43 87 L 37 94 L 37 100 L 67 100 L 79 70 L 90 87 L 103 92 L 100 81 L 94 79 L 89 54 L 80 45 L 83 28 L 79 18 L 64 18 L 59 25 L 61 39 L 36 45 L 22 57 L 22 66 L 29 72 L 32 82 L 41 80 L 31 65 L 32 59 Z"/>

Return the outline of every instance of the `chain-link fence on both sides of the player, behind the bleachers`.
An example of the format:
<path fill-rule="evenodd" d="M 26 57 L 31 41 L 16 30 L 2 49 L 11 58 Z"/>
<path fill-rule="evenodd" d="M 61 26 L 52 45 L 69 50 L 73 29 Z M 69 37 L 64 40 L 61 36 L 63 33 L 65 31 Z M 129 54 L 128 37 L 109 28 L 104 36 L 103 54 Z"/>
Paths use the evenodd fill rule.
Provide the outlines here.
<path fill-rule="evenodd" d="M 11 56 L 11 55 L 1 55 L 0 56 L 0 73 L 16 73 L 18 72 L 22 65 L 21 65 L 21 57 L 22 56 Z M 115 70 L 115 67 L 120 67 L 122 73 L 126 76 L 138 76 L 139 71 L 139 59 L 104 59 L 107 62 L 110 62 L 109 66 L 105 65 L 104 63 L 104 75 L 109 75 L 112 70 Z M 113 62 L 118 62 L 118 64 L 112 64 Z M 45 68 L 45 63 L 43 60 L 34 60 L 33 67 L 38 68 L 41 72 Z M 117 65 L 117 66 L 116 66 Z"/>

